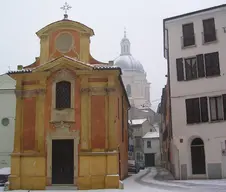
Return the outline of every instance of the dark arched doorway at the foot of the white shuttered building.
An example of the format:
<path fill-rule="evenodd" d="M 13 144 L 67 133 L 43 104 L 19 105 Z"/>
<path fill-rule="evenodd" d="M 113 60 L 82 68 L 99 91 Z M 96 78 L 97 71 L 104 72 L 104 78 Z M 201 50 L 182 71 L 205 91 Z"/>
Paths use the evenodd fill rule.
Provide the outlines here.
<path fill-rule="evenodd" d="M 192 174 L 206 174 L 205 148 L 203 140 L 195 138 L 191 143 Z"/>

